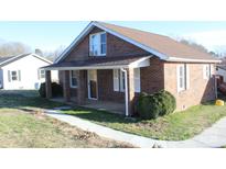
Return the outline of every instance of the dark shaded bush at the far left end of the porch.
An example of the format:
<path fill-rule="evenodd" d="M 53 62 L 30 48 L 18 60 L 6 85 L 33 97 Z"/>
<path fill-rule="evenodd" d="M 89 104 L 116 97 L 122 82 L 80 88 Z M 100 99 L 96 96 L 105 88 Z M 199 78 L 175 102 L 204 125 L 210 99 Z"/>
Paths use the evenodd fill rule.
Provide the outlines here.
<path fill-rule="evenodd" d="M 58 84 L 56 82 L 52 82 L 51 88 L 52 88 L 52 95 L 53 97 L 62 97 L 63 95 L 63 88 L 61 84 Z M 46 97 L 45 82 L 41 83 L 39 92 L 40 92 L 40 97 L 42 97 L 42 98 Z"/>

